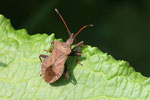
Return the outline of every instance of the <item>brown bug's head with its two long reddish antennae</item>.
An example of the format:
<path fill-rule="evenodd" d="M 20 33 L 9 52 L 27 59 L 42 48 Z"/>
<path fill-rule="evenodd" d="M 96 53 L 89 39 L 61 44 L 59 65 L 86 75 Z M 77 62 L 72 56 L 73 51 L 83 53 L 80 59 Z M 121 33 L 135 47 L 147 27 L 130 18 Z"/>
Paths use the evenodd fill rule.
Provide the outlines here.
<path fill-rule="evenodd" d="M 59 13 L 59 11 L 58 11 L 56 8 L 55 8 L 55 11 L 56 11 L 57 14 L 60 16 L 60 18 L 62 19 L 62 21 L 63 21 L 63 23 L 64 23 L 64 25 L 65 25 L 65 27 L 67 28 L 67 31 L 68 31 L 68 34 L 69 34 L 69 39 L 66 41 L 66 43 L 67 43 L 68 45 L 73 44 L 73 42 L 74 42 L 74 40 L 75 40 L 75 37 L 76 37 L 84 28 L 93 26 L 92 24 L 85 25 L 85 26 L 83 26 L 83 27 L 74 35 L 73 33 L 70 32 L 70 30 L 69 30 L 69 28 L 68 28 L 68 26 L 67 26 L 65 20 L 63 19 L 63 17 L 61 16 L 61 14 Z"/>

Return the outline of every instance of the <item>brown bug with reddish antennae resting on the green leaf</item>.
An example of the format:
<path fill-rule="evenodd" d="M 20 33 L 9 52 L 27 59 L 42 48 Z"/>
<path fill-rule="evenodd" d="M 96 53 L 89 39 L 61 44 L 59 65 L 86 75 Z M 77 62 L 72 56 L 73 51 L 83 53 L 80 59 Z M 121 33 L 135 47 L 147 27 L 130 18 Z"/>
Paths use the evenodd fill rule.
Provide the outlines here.
<path fill-rule="evenodd" d="M 42 74 L 41 75 L 43 76 L 43 79 L 47 83 L 53 83 L 56 80 L 58 80 L 62 76 L 64 69 L 65 69 L 65 76 L 67 79 L 69 79 L 69 73 L 68 73 L 67 66 L 66 66 L 66 60 L 67 60 L 68 56 L 80 56 L 81 55 L 80 50 L 79 49 L 75 50 L 75 48 L 83 46 L 84 42 L 81 41 L 81 42 L 77 43 L 73 47 L 73 49 L 71 49 L 71 45 L 73 44 L 75 37 L 84 28 L 86 28 L 88 26 L 93 26 L 91 24 L 85 25 L 74 35 L 73 33 L 70 32 L 66 22 L 64 21 L 63 17 L 58 12 L 58 10 L 55 9 L 55 11 L 60 16 L 65 27 L 67 28 L 67 31 L 69 33 L 69 39 L 66 42 L 53 41 L 52 44 L 54 44 L 54 49 L 53 49 L 51 55 L 47 56 L 47 55 L 41 54 L 39 56 L 40 60 L 41 60 L 41 57 L 45 58 L 44 61 L 41 60 L 41 62 L 42 62 L 42 67 L 41 67 Z M 51 52 L 52 44 L 50 46 L 50 50 L 46 50 L 46 51 Z"/>

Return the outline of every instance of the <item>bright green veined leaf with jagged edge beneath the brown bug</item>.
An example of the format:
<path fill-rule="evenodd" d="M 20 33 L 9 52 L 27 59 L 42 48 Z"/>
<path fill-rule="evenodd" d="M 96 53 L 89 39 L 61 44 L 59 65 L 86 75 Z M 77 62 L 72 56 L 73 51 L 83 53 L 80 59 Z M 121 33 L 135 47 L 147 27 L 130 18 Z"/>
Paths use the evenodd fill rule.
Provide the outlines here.
<path fill-rule="evenodd" d="M 48 54 L 43 50 L 54 40 L 54 34 L 15 30 L 0 15 L 0 100 L 150 100 L 150 78 L 91 46 L 82 48 L 83 66 L 68 58 L 70 80 L 63 75 L 47 84 L 39 55 Z"/>

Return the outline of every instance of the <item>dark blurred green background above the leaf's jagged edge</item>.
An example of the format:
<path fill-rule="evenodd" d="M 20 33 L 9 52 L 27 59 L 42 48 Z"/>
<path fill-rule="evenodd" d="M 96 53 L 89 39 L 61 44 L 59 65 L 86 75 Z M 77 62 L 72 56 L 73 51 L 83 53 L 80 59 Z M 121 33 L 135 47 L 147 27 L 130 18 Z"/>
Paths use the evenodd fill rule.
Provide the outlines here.
<path fill-rule="evenodd" d="M 58 8 L 71 32 L 85 24 L 79 42 L 97 46 L 115 59 L 126 60 L 136 71 L 150 76 L 150 0 L 1 0 L 0 13 L 11 19 L 15 29 L 29 34 L 55 33 L 68 38 Z"/>

